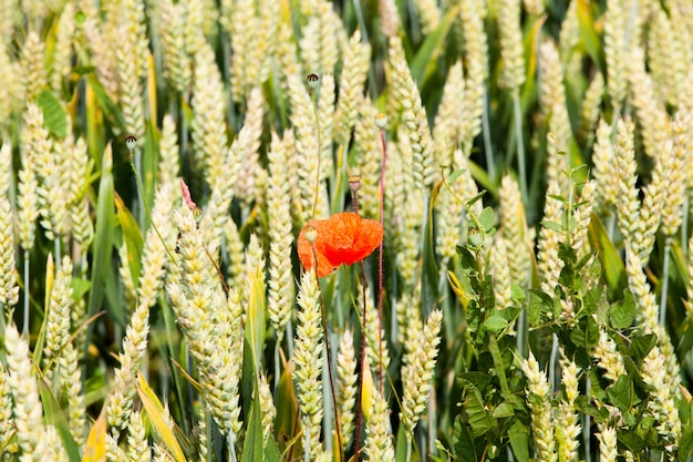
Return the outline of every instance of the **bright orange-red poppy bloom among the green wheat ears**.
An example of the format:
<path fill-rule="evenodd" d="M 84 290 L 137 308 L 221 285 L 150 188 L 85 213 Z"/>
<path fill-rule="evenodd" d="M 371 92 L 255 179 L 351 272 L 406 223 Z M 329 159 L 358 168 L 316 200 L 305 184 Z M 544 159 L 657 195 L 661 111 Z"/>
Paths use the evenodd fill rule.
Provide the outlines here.
<path fill-rule="evenodd" d="M 316 228 L 318 276 L 334 271 L 341 264 L 353 265 L 375 250 L 383 242 L 383 227 L 374 219 L 364 219 L 353 212 L 334 214 L 328 219 L 311 219 L 299 235 L 299 259 L 307 270 L 313 267 L 313 253 L 306 238 L 306 228 Z"/>

